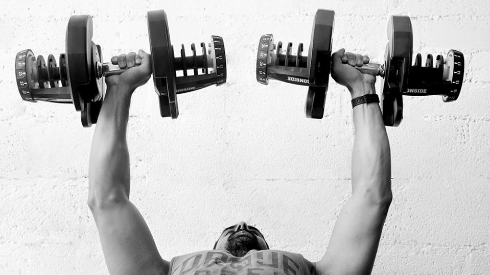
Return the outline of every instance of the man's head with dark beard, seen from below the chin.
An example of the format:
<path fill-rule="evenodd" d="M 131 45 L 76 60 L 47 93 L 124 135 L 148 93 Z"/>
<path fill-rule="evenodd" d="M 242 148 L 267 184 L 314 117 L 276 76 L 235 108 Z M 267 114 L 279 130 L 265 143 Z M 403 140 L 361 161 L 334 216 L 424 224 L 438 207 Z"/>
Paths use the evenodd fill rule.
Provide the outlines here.
<path fill-rule="evenodd" d="M 225 228 L 213 249 L 227 250 L 235 257 L 243 257 L 250 250 L 269 249 L 269 245 L 258 229 L 240 222 Z"/>

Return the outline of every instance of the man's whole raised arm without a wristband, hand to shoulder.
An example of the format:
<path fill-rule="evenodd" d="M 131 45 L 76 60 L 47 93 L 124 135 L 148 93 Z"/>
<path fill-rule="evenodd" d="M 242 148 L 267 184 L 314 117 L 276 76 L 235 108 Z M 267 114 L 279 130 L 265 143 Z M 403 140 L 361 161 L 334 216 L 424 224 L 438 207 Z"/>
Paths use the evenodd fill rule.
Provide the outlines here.
<path fill-rule="evenodd" d="M 148 81 L 151 62 L 144 51 L 122 54 L 112 62 L 129 69 L 106 78 L 90 151 L 88 205 L 111 274 L 167 274 L 168 261 L 161 259 L 143 216 L 129 201 L 129 105 L 132 92 Z"/>

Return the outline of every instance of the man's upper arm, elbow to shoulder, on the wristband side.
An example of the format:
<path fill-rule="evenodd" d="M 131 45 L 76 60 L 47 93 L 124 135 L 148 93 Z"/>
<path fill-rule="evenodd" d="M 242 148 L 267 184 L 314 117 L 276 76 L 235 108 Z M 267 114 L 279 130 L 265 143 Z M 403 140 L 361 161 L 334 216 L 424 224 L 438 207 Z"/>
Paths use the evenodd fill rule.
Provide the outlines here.
<path fill-rule="evenodd" d="M 389 204 L 351 196 L 342 207 L 330 243 L 316 271 L 369 274 L 376 258 Z"/>

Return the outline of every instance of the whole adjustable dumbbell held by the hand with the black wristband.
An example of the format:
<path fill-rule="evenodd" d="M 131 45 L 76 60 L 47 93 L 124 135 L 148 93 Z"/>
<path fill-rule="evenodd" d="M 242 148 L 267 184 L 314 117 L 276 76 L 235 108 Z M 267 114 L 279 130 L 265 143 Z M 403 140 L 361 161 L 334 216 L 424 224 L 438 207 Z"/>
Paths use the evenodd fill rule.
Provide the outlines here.
<path fill-rule="evenodd" d="M 308 118 L 323 117 L 325 95 L 328 89 L 332 31 L 335 13 L 318 10 L 315 14 L 308 57 L 302 56 L 303 45 L 297 54 L 291 53 L 292 43 L 286 51 L 282 43 L 273 42 L 271 34 L 261 37 L 256 64 L 257 81 L 267 85 L 269 78 L 291 84 L 309 86 L 305 104 Z M 322 44 L 318 44 L 321 41 Z M 275 50 L 275 51 L 274 51 Z M 381 75 L 381 109 L 387 126 L 398 126 L 402 120 L 402 95 L 442 95 L 445 102 L 454 101 L 461 91 L 464 73 L 463 54 L 456 50 L 448 53 L 446 61 L 437 57 L 433 68 L 432 56 L 422 67 L 417 54 L 414 66 L 412 57 L 412 28 L 408 16 L 392 16 L 388 23 L 388 43 L 384 64 L 369 63 L 356 67 L 361 72 Z"/>

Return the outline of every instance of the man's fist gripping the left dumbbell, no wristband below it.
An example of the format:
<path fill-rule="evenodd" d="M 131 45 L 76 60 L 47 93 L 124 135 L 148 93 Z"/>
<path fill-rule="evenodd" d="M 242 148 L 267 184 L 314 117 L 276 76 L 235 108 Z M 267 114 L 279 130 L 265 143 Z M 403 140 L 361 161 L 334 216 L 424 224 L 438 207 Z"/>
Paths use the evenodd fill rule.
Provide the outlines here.
<path fill-rule="evenodd" d="M 144 85 L 151 75 L 151 58 L 150 54 L 144 50 L 139 50 L 138 54 L 130 52 L 120 54 L 111 58 L 113 65 L 119 65 L 120 68 L 128 68 L 120 75 L 111 75 L 105 78 L 108 88 L 111 86 L 127 87 L 134 91 L 139 86 Z"/>

